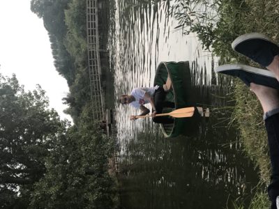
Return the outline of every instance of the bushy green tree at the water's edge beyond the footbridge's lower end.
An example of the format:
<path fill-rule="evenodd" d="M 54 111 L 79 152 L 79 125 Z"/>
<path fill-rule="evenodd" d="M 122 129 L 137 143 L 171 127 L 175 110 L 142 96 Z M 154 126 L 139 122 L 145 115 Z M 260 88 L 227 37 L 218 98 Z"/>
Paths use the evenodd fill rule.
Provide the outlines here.
<path fill-rule="evenodd" d="M 58 137 L 31 208 L 114 208 L 116 189 L 107 173 L 111 141 L 96 130 L 91 114 L 85 109 L 79 126 Z"/>

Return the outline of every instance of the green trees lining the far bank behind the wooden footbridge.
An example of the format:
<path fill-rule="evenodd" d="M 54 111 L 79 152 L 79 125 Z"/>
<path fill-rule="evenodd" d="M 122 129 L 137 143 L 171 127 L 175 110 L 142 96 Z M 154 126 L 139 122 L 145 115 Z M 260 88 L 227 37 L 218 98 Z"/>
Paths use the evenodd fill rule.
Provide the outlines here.
<path fill-rule="evenodd" d="M 15 76 L 0 76 L 1 208 L 116 208 L 112 140 L 92 118 L 86 1 L 32 0 L 31 11 L 43 19 L 68 82 L 63 102 L 74 124 L 49 108 L 40 86 L 26 92 Z"/>

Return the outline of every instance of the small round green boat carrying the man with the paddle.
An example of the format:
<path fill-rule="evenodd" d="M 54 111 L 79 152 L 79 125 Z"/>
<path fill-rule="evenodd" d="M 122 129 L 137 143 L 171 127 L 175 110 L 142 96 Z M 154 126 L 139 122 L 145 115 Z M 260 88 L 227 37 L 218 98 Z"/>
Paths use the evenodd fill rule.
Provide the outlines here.
<path fill-rule="evenodd" d="M 189 62 L 161 62 L 156 70 L 154 86 L 163 86 L 168 75 L 172 80 L 172 89 L 167 93 L 166 100 L 174 102 L 174 109 L 195 107 L 195 102 L 190 100 L 193 96 L 191 96 L 192 80 Z M 163 113 L 173 111 L 174 109 L 164 108 Z M 174 123 L 171 124 L 161 123 L 160 126 L 163 134 L 165 137 L 177 137 L 179 134 L 187 132 L 188 128 L 193 127 L 191 123 L 197 119 L 197 115 L 195 113 L 191 118 L 174 118 Z"/>

